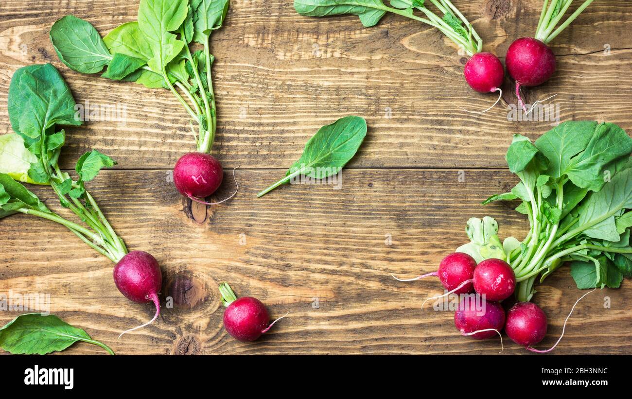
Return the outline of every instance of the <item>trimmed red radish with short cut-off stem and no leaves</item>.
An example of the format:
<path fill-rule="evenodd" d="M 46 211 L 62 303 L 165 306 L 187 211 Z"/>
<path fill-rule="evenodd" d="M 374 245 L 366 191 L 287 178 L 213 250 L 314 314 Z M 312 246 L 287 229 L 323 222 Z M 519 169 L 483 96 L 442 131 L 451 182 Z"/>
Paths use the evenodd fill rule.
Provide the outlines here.
<path fill-rule="evenodd" d="M 285 316 L 272 321 L 268 315 L 265 305 L 257 298 L 241 297 L 237 299 L 228 283 L 219 285 L 219 292 L 222 295 L 222 304 L 226 306 L 224 311 L 224 328 L 239 341 L 255 341 L 277 321 Z M 268 324 L 270 323 L 270 324 Z"/>

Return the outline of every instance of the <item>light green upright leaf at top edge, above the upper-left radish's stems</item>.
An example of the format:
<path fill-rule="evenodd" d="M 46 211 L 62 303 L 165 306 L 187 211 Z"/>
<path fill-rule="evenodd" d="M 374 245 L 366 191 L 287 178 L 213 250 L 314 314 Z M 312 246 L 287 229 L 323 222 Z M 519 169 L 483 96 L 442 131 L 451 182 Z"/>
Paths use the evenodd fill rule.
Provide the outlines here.
<path fill-rule="evenodd" d="M 138 28 L 152 49 L 153 56 L 147 61 L 152 71 L 162 69 L 185 46 L 171 32 L 178 30 L 186 18 L 188 1 L 141 0 L 138 6 Z"/>

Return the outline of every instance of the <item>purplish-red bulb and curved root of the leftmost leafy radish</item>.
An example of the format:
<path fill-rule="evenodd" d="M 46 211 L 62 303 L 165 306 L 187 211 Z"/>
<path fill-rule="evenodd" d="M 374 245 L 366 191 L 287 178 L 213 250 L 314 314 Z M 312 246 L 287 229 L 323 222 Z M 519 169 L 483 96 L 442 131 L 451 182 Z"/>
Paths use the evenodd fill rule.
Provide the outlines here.
<path fill-rule="evenodd" d="M 158 293 L 162 287 L 162 274 L 158 261 L 145 251 L 131 251 L 114 266 L 114 284 L 121 294 L 138 303 L 154 302 L 156 313 L 147 323 L 123 331 L 121 335 L 154 323 L 160 314 Z M 121 338 L 119 335 L 119 338 Z"/>

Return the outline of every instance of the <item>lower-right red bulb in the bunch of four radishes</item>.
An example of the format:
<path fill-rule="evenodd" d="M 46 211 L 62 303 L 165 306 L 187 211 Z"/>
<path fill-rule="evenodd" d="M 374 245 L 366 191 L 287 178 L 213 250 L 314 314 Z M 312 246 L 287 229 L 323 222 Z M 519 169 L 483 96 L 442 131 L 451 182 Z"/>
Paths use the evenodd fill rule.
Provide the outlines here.
<path fill-rule="evenodd" d="M 505 332 L 523 347 L 542 341 L 547 335 L 547 315 L 532 302 L 518 302 L 507 312 Z"/>

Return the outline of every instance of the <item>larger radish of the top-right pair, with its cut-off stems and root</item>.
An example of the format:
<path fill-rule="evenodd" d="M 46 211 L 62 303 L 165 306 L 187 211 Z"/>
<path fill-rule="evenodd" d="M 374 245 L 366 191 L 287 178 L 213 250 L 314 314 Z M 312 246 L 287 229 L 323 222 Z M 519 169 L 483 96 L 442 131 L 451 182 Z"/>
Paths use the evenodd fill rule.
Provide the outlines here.
<path fill-rule="evenodd" d="M 568 27 L 592 2 L 593 0 L 584 1 L 562 25 L 556 28 L 573 0 L 550 0 L 550 3 L 545 0 L 535 37 L 521 37 L 507 49 L 505 61 L 507 72 L 516 81 L 516 97 L 518 97 L 518 104 L 525 110 L 525 113 L 528 114 L 530 110 L 526 110 L 520 96 L 520 87 L 542 85 L 550 79 L 556 70 L 556 59 L 555 54 L 547 44 Z"/>

